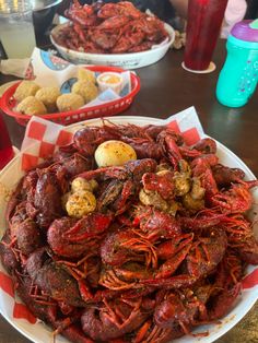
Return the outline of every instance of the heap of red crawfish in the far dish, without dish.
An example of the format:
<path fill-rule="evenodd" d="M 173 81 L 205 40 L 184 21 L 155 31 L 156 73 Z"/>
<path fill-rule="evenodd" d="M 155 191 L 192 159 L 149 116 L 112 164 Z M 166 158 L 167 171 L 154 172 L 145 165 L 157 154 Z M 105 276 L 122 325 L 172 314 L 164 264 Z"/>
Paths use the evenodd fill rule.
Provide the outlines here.
<path fill-rule="evenodd" d="M 168 37 L 164 23 L 142 13 L 129 1 L 94 2 L 81 5 L 74 0 L 64 12 L 71 20 L 55 37 L 64 47 L 99 54 L 138 52 Z"/>

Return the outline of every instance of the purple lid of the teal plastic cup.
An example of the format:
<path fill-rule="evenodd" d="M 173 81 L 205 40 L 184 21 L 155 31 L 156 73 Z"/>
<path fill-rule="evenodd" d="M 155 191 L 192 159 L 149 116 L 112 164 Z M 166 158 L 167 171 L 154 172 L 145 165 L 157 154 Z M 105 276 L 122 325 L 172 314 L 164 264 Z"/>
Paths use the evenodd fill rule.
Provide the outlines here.
<path fill-rule="evenodd" d="M 236 23 L 231 35 L 242 40 L 258 43 L 258 20 L 245 20 Z"/>

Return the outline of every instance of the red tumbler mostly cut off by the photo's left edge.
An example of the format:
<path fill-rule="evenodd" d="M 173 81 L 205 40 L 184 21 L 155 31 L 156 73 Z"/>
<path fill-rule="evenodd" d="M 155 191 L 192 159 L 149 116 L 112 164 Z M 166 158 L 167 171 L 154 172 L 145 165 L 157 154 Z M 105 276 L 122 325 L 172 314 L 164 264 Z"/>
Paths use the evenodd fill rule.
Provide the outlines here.
<path fill-rule="evenodd" d="M 0 114 L 0 169 L 12 159 L 14 153 L 8 129 Z"/>

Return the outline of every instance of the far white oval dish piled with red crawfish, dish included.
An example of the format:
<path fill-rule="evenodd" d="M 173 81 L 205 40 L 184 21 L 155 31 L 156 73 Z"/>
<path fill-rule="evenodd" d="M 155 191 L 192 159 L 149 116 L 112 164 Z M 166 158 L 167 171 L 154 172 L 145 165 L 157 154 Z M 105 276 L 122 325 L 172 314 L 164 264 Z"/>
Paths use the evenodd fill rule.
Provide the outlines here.
<path fill-rule="evenodd" d="M 172 46 L 175 31 L 131 2 L 81 5 L 77 0 L 64 12 L 69 22 L 57 25 L 50 39 L 73 63 L 134 69 L 160 60 Z"/>

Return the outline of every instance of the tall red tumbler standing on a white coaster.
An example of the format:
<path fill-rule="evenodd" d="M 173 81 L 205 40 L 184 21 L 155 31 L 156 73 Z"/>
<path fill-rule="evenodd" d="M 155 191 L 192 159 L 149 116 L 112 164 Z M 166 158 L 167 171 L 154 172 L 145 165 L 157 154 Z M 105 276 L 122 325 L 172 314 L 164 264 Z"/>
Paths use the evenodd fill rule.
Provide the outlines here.
<path fill-rule="evenodd" d="M 184 64 L 191 71 L 210 66 L 227 0 L 189 0 Z"/>

